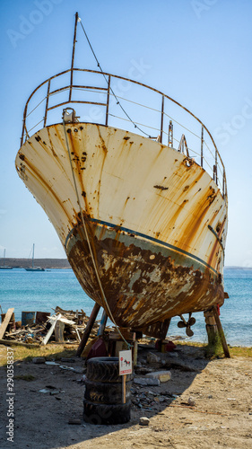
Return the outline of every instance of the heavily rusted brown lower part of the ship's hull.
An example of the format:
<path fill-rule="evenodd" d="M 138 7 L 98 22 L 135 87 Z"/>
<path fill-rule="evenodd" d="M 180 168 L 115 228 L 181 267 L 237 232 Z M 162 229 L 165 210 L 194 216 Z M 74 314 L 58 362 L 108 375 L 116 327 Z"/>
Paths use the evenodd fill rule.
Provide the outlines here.
<path fill-rule="evenodd" d="M 91 224 L 97 263 L 110 311 L 118 326 L 141 329 L 181 313 L 223 304 L 222 277 L 200 261 L 161 244 Z M 80 226 L 66 252 L 83 289 L 102 305 L 87 243 Z M 98 238 L 97 235 L 101 236 Z"/>

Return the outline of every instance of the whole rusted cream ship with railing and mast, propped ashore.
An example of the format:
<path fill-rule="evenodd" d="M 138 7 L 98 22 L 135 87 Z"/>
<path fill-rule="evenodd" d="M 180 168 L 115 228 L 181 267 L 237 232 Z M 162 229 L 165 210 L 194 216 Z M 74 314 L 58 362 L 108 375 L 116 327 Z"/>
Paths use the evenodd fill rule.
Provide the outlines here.
<path fill-rule="evenodd" d="M 156 335 L 173 316 L 223 304 L 225 169 L 178 101 L 74 67 L 78 20 L 71 68 L 26 103 L 16 169 L 87 295 L 118 327 Z"/>

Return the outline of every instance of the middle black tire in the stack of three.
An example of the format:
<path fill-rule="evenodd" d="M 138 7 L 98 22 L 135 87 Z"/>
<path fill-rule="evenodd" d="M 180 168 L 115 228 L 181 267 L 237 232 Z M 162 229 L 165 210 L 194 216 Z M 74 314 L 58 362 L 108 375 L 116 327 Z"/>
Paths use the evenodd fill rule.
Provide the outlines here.
<path fill-rule="evenodd" d="M 126 382 L 126 402 L 131 397 L 131 382 Z M 84 398 L 98 404 L 122 404 L 122 383 L 85 382 Z"/>

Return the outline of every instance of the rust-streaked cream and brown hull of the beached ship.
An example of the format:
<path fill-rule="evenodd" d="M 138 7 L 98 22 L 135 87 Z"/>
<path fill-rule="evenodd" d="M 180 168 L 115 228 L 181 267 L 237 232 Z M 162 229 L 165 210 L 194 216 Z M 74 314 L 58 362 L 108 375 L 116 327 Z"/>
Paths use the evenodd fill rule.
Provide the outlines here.
<path fill-rule="evenodd" d="M 117 325 L 142 329 L 223 304 L 227 203 L 192 159 L 121 129 L 74 123 L 66 134 L 58 124 L 31 136 L 16 166 L 83 289 Z"/>

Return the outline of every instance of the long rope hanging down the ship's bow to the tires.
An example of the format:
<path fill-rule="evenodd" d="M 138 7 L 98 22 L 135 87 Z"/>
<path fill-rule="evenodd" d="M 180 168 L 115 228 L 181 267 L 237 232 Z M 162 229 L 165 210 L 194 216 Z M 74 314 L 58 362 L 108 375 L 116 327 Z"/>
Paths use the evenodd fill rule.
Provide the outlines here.
<path fill-rule="evenodd" d="M 83 222 L 83 230 L 84 230 L 85 237 L 86 237 L 86 240 L 87 240 L 87 243 L 88 243 L 89 251 L 90 251 L 90 253 L 91 253 L 91 261 L 92 261 L 93 268 L 94 268 L 94 270 L 95 270 L 95 274 L 96 274 L 96 277 L 97 277 L 97 280 L 98 280 L 98 284 L 99 284 L 99 287 L 100 287 L 100 294 L 101 294 L 101 296 L 102 296 L 102 300 L 103 300 L 104 304 L 106 304 L 107 309 L 108 309 L 108 311 L 109 311 L 109 318 L 110 318 L 110 320 L 111 320 L 111 321 L 113 322 L 113 324 L 116 326 L 117 332 L 120 334 L 121 338 L 125 341 L 125 343 L 126 343 L 126 345 L 127 345 L 127 348 L 130 348 L 130 344 L 126 341 L 126 339 L 125 339 L 124 336 L 122 335 L 121 331 L 120 331 L 119 328 L 117 327 L 117 323 L 116 323 L 116 321 L 114 320 L 113 315 L 112 315 L 112 313 L 111 313 L 111 311 L 110 311 L 110 308 L 109 308 L 109 304 L 108 304 L 106 295 L 105 295 L 104 290 L 103 290 L 103 287 L 102 287 L 102 285 L 101 285 L 98 267 L 97 267 L 97 264 L 96 264 L 96 260 L 95 260 L 95 258 L 94 258 L 94 251 L 92 251 L 92 248 L 91 248 L 91 241 L 90 241 L 90 238 L 89 238 L 87 226 L 86 226 L 85 219 L 84 219 L 84 216 L 83 216 L 83 209 L 82 209 L 82 207 L 81 207 L 80 196 L 79 196 L 79 192 L 78 192 L 78 188 L 77 188 L 77 183 L 76 183 L 76 179 L 75 179 L 75 175 L 74 175 L 74 168 L 73 168 L 73 163 L 72 163 L 72 159 L 71 159 L 71 153 L 70 153 L 70 148 L 69 148 L 69 144 L 68 144 L 68 138 L 67 138 L 67 135 L 66 135 L 66 130 L 65 130 L 65 120 L 64 120 L 64 119 L 63 119 L 63 128 L 64 128 L 64 132 L 65 132 L 65 142 L 66 142 L 66 147 L 67 147 L 67 153 L 68 153 L 68 156 L 69 156 L 69 161 L 70 161 L 70 165 L 71 165 L 72 176 L 73 176 L 73 180 L 74 180 L 74 189 L 75 189 L 76 198 L 77 198 L 77 202 L 78 202 L 78 205 L 79 205 L 79 208 L 80 208 L 80 214 L 81 214 L 82 222 Z M 104 307 L 104 306 L 103 306 L 103 307 Z"/>

